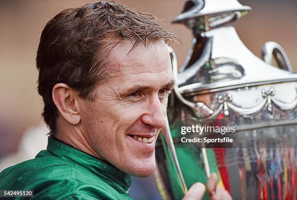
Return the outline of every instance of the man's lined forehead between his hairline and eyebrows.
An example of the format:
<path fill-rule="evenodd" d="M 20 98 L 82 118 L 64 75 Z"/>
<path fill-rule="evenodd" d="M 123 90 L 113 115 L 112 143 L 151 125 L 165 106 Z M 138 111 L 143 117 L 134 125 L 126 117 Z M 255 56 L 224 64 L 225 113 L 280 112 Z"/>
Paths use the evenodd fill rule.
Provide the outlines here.
<path fill-rule="evenodd" d="M 164 84 L 173 79 L 170 56 L 163 41 L 148 47 L 139 44 L 130 51 L 132 46 L 123 42 L 110 52 L 107 59 L 113 68 L 111 80 L 118 79 L 124 86 L 135 82 Z"/>

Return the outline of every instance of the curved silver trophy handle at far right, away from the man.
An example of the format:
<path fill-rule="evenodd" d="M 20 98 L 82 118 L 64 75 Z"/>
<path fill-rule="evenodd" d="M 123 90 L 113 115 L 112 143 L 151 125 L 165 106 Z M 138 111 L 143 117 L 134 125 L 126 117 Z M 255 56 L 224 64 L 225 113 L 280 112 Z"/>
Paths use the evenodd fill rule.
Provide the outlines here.
<path fill-rule="evenodd" d="M 293 72 L 291 63 L 286 52 L 281 45 L 276 42 L 266 42 L 262 47 L 262 59 L 269 65 L 273 66 L 273 56 L 275 57 L 280 68 Z"/>

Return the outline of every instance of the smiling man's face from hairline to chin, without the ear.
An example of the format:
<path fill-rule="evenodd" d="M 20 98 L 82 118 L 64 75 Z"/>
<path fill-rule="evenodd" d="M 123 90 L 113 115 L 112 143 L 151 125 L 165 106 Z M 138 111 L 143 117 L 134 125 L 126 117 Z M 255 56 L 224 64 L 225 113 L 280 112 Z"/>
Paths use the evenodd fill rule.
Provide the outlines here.
<path fill-rule="evenodd" d="M 102 159 L 145 177 L 155 169 L 155 142 L 174 79 L 164 42 L 138 45 L 127 55 L 131 48 L 123 42 L 109 54 L 115 71 L 96 87 L 94 102 L 81 100 L 81 128 Z"/>

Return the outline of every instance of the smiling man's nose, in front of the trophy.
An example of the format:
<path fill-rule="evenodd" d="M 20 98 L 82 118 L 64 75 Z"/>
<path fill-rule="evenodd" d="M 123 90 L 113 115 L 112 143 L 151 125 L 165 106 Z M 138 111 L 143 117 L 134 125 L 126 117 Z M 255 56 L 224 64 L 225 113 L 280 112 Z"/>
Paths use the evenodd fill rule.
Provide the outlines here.
<path fill-rule="evenodd" d="M 165 126 L 165 104 L 161 104 L 158 95 L 149 99 L 150 100 L 146 105 L 147 112 L 141 116 L 141 121 L 153 126 L 156 129 L 161 129 Z"/>

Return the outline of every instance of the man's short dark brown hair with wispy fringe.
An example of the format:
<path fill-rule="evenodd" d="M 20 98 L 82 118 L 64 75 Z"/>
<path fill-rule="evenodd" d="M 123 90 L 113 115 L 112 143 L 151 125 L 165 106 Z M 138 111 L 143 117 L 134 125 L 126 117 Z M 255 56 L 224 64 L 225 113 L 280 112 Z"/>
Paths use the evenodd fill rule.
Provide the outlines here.
<path fill-rule="evenodd" d="M 152 15 L 115 2 L 88 3 L 63 10 L 49 20 L 41 33 L 36 67 L 38 93 L 44 101 L 42 116 L 51 133 L 57 129 L 58 111 L 52 101 L 56 83 L 66 83 L 82 99 L 95 100 L 96 84 L 112 72 L 106 56 L 117 44 L 133 42 L 133 50 L 140 43 L 147 47 L 175 39 Z"/>

